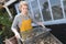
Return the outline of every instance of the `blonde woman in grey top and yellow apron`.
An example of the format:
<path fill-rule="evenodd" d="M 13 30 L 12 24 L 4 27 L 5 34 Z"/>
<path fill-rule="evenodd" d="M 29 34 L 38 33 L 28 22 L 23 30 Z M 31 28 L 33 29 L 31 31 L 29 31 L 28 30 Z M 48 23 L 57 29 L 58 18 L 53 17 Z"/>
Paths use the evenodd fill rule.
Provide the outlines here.
<path fill-rule="evenodd" d="M 25 1 L 20 2 L 19 10 L 21 11 L 21 13 L 15 15 L 11 30 L 14 32 L 16 38 L 20 38 L 21 34 L 22 40 L 26 40 L 28 36 L 32 37 L 32 21 L 38 25 L 43 25 L 43 23 L 36 22 L 32 16 L 30 16 L 29 6 Z M 20 33 L 16 31 L 18 28 L 20 30 Z"/>

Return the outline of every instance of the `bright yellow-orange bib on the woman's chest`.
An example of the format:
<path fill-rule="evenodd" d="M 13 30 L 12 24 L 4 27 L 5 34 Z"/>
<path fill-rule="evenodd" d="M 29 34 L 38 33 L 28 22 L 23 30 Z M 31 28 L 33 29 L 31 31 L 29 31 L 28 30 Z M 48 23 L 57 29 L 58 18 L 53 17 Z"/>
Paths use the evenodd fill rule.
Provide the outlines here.
<path fill-rule="evenodd" d="M 28 20 L 22 20 L 21 26 L 20 26 L 20 31 L 24 32 L 24 31 L 29 31 L 32 30 L 32 20 L 28 19 Z"/>

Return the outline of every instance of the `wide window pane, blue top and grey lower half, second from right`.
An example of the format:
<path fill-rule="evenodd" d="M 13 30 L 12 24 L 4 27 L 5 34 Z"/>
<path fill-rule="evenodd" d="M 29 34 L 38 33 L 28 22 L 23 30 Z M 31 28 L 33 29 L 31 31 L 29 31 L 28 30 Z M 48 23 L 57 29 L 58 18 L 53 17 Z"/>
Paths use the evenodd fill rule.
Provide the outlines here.
<path fill-rule="evenodd" d="M 50 0 L 54 20 L 63 19 L 61 0 Z"/>

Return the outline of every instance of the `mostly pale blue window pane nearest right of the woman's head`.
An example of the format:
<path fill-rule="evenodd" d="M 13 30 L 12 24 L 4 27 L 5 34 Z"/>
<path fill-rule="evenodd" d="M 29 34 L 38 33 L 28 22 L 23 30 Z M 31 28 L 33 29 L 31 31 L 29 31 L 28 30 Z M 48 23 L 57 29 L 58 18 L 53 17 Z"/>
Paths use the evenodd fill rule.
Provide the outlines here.
<path fill-rule="evenodd" d="M 32 6 L 34 19 L 36 21 L 42 21 L 42 16 L 41 16 L 41 13 L 40 13 L 37 0 L 31 1 L 31 6 Z"/>

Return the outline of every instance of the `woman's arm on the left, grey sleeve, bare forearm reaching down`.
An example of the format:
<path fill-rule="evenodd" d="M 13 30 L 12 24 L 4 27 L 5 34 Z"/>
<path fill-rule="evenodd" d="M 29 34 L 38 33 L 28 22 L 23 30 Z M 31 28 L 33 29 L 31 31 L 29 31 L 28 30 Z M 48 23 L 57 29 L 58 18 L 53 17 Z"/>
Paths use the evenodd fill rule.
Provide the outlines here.
<path fill-rule="evenodd" d="M 16 37 L 20 37 L 20 34 L 18 32 L 18 16 L 15 15 L 12 26 L 11 26 L 12 32 L 15 34 Z"/>

